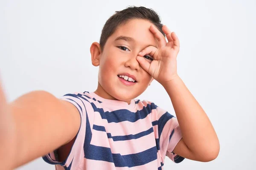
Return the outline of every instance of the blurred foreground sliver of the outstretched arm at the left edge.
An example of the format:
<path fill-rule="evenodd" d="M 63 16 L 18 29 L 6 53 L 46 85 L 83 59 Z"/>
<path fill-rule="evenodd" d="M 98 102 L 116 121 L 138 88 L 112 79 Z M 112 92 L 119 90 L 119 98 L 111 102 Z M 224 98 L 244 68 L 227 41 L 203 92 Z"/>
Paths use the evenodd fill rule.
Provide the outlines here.
<path fill-rule="evenodd" d="M 15 123 L 0 81 L 0 164 L 3 170 L 13 169 L 15 162 Z"/>

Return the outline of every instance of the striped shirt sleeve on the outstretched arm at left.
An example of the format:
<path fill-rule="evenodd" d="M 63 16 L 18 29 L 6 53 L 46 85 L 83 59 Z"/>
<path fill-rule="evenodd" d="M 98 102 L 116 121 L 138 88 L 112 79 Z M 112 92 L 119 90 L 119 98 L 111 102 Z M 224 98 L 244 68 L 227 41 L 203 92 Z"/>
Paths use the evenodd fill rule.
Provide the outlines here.
<path fill-rule="evenodd" d="M 84 158 L 84 150 L 87 148 L 88 141 L 90 142 L 91 139 L 92 123 L 90 122 L 93 120 L 93 114 L 88 114 L 91 109 L 90 102 L 85 97 L 81 96 L 81 94 L 66 94 L 61 96 L 60 99 L 72 103 L 79 111 L 81 117 L 79 131 L 75 136 L 75 141 L 71 147 L 70 153 L 64 161 L 58 161 L 56 150 L 42 156 L 42 158 L 47 163 L 54 164 L 56 169 L 62 170 L 64 167 L 65 170 L 70 170 L 71 166 L 77 167 Z M 85 141 L 85 139 L 87 139 L 87 141 Z"/>

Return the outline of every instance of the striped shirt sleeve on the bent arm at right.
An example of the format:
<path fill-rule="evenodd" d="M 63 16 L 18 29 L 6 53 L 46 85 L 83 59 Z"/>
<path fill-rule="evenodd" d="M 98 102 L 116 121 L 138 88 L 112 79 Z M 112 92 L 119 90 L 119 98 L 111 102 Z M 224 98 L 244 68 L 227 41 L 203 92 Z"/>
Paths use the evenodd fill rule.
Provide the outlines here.
<path fill-rule="evenodd" d="M 160 107 L 157 107 L 156 110 L 161 156 L 163 159 L 168 156 L 175 163 L 180 163 L 184 158 L 173 153 L 175 146 L 182 139 L 177 118 Z"/>

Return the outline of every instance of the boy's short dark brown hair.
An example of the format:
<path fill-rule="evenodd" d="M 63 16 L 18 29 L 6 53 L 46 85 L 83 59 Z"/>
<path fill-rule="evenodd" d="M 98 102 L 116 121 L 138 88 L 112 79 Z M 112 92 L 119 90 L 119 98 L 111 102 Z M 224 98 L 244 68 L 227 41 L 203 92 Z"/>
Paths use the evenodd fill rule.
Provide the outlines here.
<path fill-rule="evenodd" d="M 106 41 L 108 40 L 108 37 L 110 37 L 114 31 L 116 31 L 116 28 L 122 24 L 125 24 L 128 20 L 131 19 L 144 19 L 150 21 L 159 29 L 163 36 L 166 37 L 162 31 L 163 24 L 161 23 L 161 19 L 153 9 L 145 8 L 143 6 L 130 6 L 123 9 L 122 11 L 116 11 L 116 13 L 106 21 L 102 29 L 102 34 L 99 41 L 99 45 L 101 46 L 102 51 Z"/>

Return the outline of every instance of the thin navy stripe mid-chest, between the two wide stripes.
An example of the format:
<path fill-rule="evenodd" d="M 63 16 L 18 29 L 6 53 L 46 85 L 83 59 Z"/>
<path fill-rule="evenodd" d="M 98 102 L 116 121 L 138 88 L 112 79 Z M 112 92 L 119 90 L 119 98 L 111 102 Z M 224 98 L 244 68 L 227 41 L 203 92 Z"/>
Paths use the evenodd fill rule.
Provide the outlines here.
<path fill-rule="evenodd" d="M 138 138 L 146 136 L 152 132 L 154 132 L 153 127 L 151 127 L 148 130 L 145 130 L 143 132 L 137 133 L 135 135 L 111 136 L 111 133 L 108 133 L 107 135 L 108 135 L 108 138 L 112 138 L 113 141 L 125 141 L 125 140 L 131 140 L 131 139 L 138 139 Z"/>

